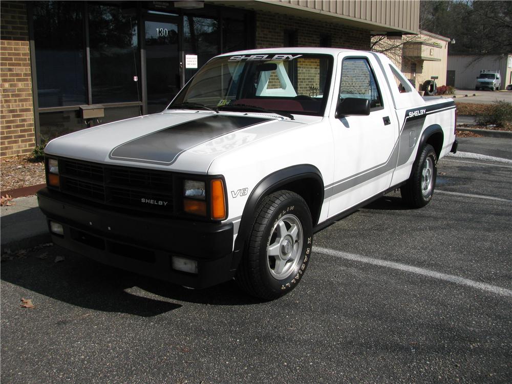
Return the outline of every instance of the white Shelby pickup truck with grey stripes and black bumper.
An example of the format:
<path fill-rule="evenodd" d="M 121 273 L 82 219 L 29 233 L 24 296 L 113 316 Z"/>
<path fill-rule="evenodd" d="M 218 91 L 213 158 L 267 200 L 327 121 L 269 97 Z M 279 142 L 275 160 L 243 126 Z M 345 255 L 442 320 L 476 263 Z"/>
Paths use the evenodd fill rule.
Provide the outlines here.
<path fill-rule="evenodd" d="M 302 280 L 314 232 L 396 188 L 429 203 L 455 112 L 378 53 L 223 54 L 161 113 L 52 140 L 39 206 L 55 244 L 101 263 L 271 300 Z"/>

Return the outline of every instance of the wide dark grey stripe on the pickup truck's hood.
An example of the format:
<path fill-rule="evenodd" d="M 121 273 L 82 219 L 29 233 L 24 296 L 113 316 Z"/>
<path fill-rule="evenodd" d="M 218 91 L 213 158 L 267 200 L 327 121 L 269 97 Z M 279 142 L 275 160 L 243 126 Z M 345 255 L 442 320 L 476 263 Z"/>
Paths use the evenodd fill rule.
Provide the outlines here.
<path fill-rule="evenodd" d="M 213 115 L 187 121 L 138 137 L 112 150 L 112 160 L 171 165 L 185 151 L 234 131 L 271 119 Z"/>

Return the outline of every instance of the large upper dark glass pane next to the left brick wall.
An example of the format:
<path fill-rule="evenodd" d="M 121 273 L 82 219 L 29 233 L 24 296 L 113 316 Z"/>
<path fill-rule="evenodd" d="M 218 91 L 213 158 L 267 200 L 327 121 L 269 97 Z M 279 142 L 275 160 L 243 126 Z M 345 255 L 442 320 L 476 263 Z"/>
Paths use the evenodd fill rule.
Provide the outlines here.
<path fill-rule="evenodd" d="M 83 4 L 33 2 L 39 108 L 87 102 Z"/>

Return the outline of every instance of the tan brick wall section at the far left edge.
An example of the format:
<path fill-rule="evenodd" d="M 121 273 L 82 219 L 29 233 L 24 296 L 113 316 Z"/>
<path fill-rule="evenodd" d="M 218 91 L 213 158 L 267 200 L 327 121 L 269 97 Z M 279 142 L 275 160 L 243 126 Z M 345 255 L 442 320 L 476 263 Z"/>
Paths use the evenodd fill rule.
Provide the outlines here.
<path fill-rule="evenodd" d="M 0 157 L 10 157 L 29 154 L 35 146 L 25 3 L 2 0 L 0 26 Z"/>

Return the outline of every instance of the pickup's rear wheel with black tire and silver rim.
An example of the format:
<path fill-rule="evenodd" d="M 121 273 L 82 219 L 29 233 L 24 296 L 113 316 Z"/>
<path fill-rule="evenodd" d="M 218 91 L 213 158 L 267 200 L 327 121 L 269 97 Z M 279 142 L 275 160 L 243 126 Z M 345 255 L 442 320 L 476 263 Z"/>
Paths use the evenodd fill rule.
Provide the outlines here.
<path fill-rule="evenodd" d="M 424 207 L 432 200 L 437 178 L 437 154 L 426 144 L 413 164 L 411 177 L 400 188 L 402 200 L 413 208 Z"/>

